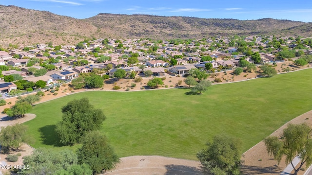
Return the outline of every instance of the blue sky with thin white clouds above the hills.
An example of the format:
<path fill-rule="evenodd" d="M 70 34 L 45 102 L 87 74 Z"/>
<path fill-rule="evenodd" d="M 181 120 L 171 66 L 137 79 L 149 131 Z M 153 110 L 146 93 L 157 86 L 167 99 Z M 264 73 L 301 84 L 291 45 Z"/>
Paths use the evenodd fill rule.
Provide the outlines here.
<path fill-rule="evenodd" d="M 0 4 L 80 19 L 112 13 L 312 22 L 312 0 L 1 0 Z"/>

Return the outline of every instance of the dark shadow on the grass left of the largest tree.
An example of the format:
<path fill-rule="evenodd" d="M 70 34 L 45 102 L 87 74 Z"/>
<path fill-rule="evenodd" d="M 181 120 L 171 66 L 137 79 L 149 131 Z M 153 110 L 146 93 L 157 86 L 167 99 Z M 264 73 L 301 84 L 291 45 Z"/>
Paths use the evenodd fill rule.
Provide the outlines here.
<path fill-rule="evenodd" d="M 56 147 L 65 146 L 59 143 L 58 133 L 55 132 L 56 125 L 45 125 L 39 128 L 41 143 L 45 145 L 53 145 Z"/>

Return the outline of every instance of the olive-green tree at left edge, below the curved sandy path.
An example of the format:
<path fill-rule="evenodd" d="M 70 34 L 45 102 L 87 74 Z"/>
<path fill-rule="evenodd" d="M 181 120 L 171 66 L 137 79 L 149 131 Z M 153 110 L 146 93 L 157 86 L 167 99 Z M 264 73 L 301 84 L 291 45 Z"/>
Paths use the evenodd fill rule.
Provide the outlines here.
<path fill-rule="evenodd" d="M 25 132 L 27 127 L 21 124 L 1 127 L 0 142 L 2 151 L 7 152 L 9 149 L 19 150 L 22 142 L 26 140 Z"/>

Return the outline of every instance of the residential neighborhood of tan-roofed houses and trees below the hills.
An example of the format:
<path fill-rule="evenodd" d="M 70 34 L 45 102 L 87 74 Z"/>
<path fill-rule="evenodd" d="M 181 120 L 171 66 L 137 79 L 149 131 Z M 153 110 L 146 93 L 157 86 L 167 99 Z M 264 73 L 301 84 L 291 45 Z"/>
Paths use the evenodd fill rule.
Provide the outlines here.
<path fill-rule="evenodd" d="M 208 72 L 233 70 L 242 66 L 241 60 L 261 65 L 296 59 L 312 54 L 311 43 L 312 38 L 256 35 L 188 39 L 182 43 L 174 39 L 96 39 L 85 40 L 77 46 L 41 43 L 2 48 L 0 65 L 7 67 L 2 69 L 4 77 L 18 74 L 33 82 L 42 78 L 47 85 L 59 80 L 73 80 L 80 73 L 95 70 L 101 70 L 102 75 L 110 77 L 114 77 L 117 69 L 126 70 L 128 74 L 135 71 L 144 75 L 145 70 L 151 70 L 153 76 L 158 77 L 166 72 L 183 76 L 191 69 Z M 212 64 L 210 70 L 206 69 L 208 63 Z M 140 70 L 139 65 L 145 65 L 145 68 Z M 35 70 L 41 69 L 47 70 L 46 73 L 34 75 Z M 11 83 L 8 89 L 12 90 L 14 83 Z"/>

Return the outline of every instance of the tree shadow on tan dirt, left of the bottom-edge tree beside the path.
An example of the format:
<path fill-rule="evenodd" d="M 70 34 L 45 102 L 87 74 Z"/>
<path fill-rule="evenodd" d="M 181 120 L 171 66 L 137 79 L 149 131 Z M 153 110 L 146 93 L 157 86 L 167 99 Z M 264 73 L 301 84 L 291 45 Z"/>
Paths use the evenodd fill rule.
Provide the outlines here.
<path fill-rule="evenodd" d="M 210 175 L 201 169 L 185 165 L 165 165 L 167 172 L 165 175 Z"/>

